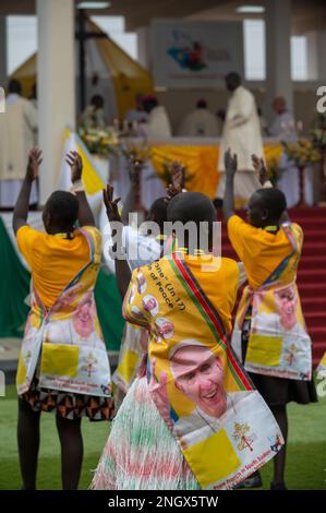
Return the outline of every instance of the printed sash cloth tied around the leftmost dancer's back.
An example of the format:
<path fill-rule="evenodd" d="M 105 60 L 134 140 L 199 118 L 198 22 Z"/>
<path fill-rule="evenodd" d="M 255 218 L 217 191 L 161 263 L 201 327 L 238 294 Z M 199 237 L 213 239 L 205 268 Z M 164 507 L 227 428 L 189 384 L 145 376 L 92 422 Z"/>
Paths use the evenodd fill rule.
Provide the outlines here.
<path fill-rule="evenodd" d="M 40 387 L 111 394 L 109 360 L 92 288 L 99 271 L 101 237 L 95 228 L 80 231 L 89 244 L 89 262 L 49 310 L 32 282 L 31 312 L 16 375 L 19 394 L 29 389 L 35 372 Z"/>

